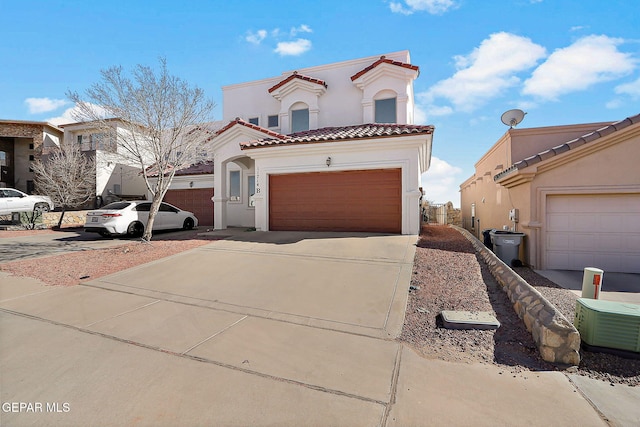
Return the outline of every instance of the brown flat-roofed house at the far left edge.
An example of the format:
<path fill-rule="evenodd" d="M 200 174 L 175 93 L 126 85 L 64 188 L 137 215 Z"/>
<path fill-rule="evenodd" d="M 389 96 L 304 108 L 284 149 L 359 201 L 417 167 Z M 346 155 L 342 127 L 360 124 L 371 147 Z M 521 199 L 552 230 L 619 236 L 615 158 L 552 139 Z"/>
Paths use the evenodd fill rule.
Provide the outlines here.
<path fill-rule="evenodd" d="M 0 187 L 31 194 L 31 162 L 60 146 L 63 131 L 46 122 L 0 120 Z"/>

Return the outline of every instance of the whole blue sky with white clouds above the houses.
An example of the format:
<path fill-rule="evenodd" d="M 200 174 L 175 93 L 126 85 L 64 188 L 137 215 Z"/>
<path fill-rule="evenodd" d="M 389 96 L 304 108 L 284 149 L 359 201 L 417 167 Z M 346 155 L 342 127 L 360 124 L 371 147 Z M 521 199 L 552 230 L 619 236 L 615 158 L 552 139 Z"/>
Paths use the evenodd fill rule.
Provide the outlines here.
<path fill-rule="evenodd" d="M 0 118 L 69 122 L 68 90 L 101 69 L 156 65 L 203 88 L 408 49 L 417 117 L 433 124 L 427 198 L 459 184 L 507 130 L 640 112 L 637 0 L 0 0 Z"/>

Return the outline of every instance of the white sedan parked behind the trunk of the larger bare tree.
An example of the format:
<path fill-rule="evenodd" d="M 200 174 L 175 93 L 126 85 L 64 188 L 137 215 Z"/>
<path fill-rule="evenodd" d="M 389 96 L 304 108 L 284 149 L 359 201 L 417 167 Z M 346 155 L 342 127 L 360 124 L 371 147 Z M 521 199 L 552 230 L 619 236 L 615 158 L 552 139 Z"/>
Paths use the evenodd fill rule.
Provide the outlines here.
<path fill-rule="evenodd" d="M 103 237 L 114 234 L 127 234 L 140 237 L 149 221 L 151 201 L 113 202 L 100 209 L 87 212 L 84 230 L 100 233 Z M 187 211 L 176 208 L 169 203 L 161 203 L 153 222 L 153 231 L 184 229 L 190 230 L 198 226 L 198 218 Z"/>

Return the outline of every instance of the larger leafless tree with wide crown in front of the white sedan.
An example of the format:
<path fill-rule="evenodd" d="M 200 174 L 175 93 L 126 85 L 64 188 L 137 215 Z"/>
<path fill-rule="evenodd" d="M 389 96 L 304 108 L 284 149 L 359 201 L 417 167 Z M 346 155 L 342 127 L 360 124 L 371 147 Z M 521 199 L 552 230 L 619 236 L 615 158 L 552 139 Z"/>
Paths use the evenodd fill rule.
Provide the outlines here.
<path fill-rule="evenodd" d="M 102 80 L 85 97 L 67 94 L 78 107 L 75 118 L 115 138 L 117 156 L 140 167 L 152 199 L 142 236 L 147 241 L 175 171 L 195 163 L 206 151 L 211 133 L 202 124 L 211 120 L 215 107 L 202 89 L 170 75 L 164 58 L 159 62 L 157 72 L 138 65 L 131 77 L 122 67 L 102 70 Z M 114 131 L 113 119 L 118 119 L 120 131 Z"/>

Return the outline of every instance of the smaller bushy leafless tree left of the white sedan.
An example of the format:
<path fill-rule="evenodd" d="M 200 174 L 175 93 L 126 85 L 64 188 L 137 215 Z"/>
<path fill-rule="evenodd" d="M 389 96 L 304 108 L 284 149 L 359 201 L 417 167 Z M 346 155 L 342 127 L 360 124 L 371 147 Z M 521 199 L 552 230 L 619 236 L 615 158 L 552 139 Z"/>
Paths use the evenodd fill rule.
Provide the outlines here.
<path fill-rule="evenodd" d="M 62 145 L 33 162 L 36 188 L 62 207 L 58 228 L 67 209 L 78 208 L 93 199 L 96 189 L 96 162 L 78 146 Z"/>

